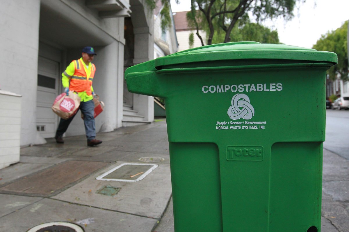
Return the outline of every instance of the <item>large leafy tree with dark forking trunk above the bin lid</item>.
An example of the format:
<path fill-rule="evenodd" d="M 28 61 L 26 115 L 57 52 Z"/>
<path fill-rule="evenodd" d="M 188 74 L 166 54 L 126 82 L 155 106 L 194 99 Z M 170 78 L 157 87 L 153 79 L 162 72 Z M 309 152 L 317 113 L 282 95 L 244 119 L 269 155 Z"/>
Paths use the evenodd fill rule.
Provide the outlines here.
<path fill-rule="evenodd" d="M 196 28 L 196 35 L 202 45 L 204 43 L 199 29 L 207 31 L 207 45 L 218 41 L 214 36 L 221 40 L 223 35 L 224 40 L 219 42 L 229 42 L 238 38 L 236 33 L 240 30 L 245 33 L 245 36 L 248 31 L 253 32 L 249 29 L 262 29 L 275 38 L 277 32 L 270 29 L 267 31 L 265 27 L 259 25 L 259 22 L 279 16 L 286 20 L 291 19 L 294 16 L 292 12 L 296 2 L 305 2 L 305 0 L 191 0 L 192 8 L 187 19 Z M 251 23 L 250 16 L 257 23 Z M 236 27 L 236 25 L 239 26 Z"/>

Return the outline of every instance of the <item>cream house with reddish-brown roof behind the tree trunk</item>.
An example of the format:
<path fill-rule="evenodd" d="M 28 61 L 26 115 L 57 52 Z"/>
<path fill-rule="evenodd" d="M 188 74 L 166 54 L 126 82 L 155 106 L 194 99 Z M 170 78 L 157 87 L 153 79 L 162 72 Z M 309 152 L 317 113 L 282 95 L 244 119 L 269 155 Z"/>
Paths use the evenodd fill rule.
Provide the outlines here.
<path fill-rule="evenodd" d="M 190 47 L 189 45 L 189 36 L 191 33 L 194 34 L 194 44 L 193 48 L 201 47 L 201 41 L 196 35 L 196 29 L 188 26 L 187 13 L 189 11 L 180 11 L 173 13 L 174 25 L 176 26 L 176 35 L 178 40 L 178 51 L 187 50 Z M 205 31 L 199 30 L 199 33 L 203 39 L 206 41 Z"/>

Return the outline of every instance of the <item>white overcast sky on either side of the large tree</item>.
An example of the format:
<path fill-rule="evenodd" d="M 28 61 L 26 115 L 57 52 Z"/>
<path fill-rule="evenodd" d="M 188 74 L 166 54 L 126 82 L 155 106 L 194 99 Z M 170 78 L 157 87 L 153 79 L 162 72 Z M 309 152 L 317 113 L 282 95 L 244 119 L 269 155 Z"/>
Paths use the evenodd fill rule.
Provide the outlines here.
<path fill-rule="evenodd" d="M 190 0 L 171 0 L 173 12 L 190 10 Z M 280 42 L 311 48 L 322 34 L 340 27 L 349 19 L 349 0 L 306 0 L 288 22 L 276 19 L 265 25 L 277 29 Z"/>

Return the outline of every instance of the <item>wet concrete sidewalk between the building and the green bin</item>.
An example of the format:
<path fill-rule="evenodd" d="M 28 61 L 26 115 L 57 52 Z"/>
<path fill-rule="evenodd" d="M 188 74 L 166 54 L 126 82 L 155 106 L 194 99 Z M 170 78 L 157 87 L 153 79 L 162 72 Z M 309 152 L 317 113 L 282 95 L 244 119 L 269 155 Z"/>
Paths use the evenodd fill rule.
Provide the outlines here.
<path fill-rule="evenodd" d="M 98 147 L 88 147 L 83 135 L 22 148 L 20 163 L 0 170 L 0 231 L 49 222 L 86 232 L 153 231 L 172 194 L 166 121 L 97 138 Z M 126 182 L 96 179 L 121 165 L 104 178 Z"/>

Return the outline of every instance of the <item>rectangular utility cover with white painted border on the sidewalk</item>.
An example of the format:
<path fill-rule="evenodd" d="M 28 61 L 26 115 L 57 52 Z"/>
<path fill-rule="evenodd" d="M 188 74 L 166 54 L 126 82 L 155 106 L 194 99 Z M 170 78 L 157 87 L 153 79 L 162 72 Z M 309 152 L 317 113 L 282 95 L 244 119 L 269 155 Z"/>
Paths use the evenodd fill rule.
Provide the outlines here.
<path fill-rule="evenodd" d="M 121 165 L 98 176 L 99 181 L 137 182 L 157 168 L 157 164 L 122 163 Z"/>

